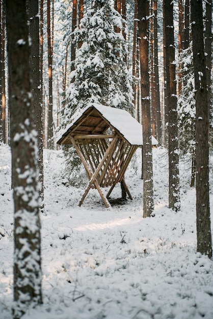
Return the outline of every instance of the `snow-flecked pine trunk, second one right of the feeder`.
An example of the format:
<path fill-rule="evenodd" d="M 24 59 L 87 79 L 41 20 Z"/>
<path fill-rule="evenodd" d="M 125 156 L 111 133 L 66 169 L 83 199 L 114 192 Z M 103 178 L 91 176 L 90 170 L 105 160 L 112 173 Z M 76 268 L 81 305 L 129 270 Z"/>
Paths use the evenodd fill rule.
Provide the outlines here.
<path fill-rule="evenodd" d="M 169 104 L 168 116 L 168 148 L 169 148 L 169 208 L 180 209 L 179 191 L 179 150 L 177 129 L 177 89 L 175 78 L 175 47 L 173 3 L 164 0 L 165 10 L 165 44 L 166 44 L 166 71 L 167 93 Z"/>

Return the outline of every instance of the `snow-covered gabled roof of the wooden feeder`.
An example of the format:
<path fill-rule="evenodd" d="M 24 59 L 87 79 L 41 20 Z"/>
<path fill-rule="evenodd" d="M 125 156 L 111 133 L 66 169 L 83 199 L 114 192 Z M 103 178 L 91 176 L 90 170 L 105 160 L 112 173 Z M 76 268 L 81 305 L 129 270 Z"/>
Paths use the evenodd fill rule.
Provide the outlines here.
<path fill-rule="evenodd" d="M 105 105 L 97 103 L 89 104 L 86 108 L 82 109 L 77 114 L 75 114 L 72 118 L 72 122 L 68 124 L 65 129 L 59 132 L 57 136 L 57 143 L 61 144 L 61 142 L 69 134 L 69 132 L 76 132 L 76 127 L 78 123 L 82 121 L 84 117 L 85 121 L 83 120 L 81 125 L 82 127 L 88 128 L 89 123 L 86 123 L 86 119 L 88 119 L 89 113 L 91 114 L 91 117 L 97 117 L 97 115 L 99 114 L 101 120 L 101 122 L 99 122 L 98 125 L 96 122 L 94 122 L 94 126 L 92 126 L 91 124 L 91 127 L 93 127 L 93 129 L 91 130 L 92 134 L 102 134 L 109 127 L 112 127 L 129 144 L 138 146 L 143 145 L 142 125 L 134 117 L 132 117 L 125 110 L 106 107 Z M 103 123 L 103 120 L 105 120 L 105 125 Z M 92 120 L 90 122 L 92 122 Z M 95 127 L 95 125 L 97 126 L 97 128 Z M 80 126 L 78 126 L 78 130 L 79 127 Z M 91 132 L 87 130 L 83 133 L 83 128 L 81 128 L 81 134 L 91 134 Z M 154 137 L 152 137 L 152 145 L 156 144 L 158 144 L 157 140 Z"/>

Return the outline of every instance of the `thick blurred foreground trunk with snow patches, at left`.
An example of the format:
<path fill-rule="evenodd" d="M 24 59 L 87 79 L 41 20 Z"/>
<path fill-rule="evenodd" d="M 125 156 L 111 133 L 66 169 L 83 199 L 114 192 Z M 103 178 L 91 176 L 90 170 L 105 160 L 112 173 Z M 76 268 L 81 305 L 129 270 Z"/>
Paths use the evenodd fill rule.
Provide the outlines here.
<path fill-rule="evenodd" d="M 18 12 L 18 14 L 17 14 Z M 19 319 L 42 302 L 37 139 L 26 1 L 7 0 L 9 104 L 14 197 L 14 308 Z"/>

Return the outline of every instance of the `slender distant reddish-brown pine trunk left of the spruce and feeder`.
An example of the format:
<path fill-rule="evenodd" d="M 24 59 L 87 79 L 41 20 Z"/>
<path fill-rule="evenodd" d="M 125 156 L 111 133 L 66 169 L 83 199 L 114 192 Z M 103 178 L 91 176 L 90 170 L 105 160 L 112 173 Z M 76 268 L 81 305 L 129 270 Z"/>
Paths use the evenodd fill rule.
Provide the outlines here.
<path fill-rule="evenodd" d="M 54 149 L 54 120 L 52 115 L 52 46 L 50 26 L 50 0 L 47 0 L 47 50 L 48 50 L 48 126 L 47 126 L 47 148 Z"/>

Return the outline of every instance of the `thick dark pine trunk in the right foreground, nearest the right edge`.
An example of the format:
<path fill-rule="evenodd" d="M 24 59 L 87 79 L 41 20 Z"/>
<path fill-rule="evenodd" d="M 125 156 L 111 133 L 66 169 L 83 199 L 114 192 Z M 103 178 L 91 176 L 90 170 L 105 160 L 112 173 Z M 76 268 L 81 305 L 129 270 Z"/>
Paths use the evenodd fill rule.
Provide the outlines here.
<path fill-rule="evenodd" d="M 197 251 L 212 257 L 209 207 L 209 101 L 203 33 L 202 1 L 191 2 L 196 104 Z"/>

